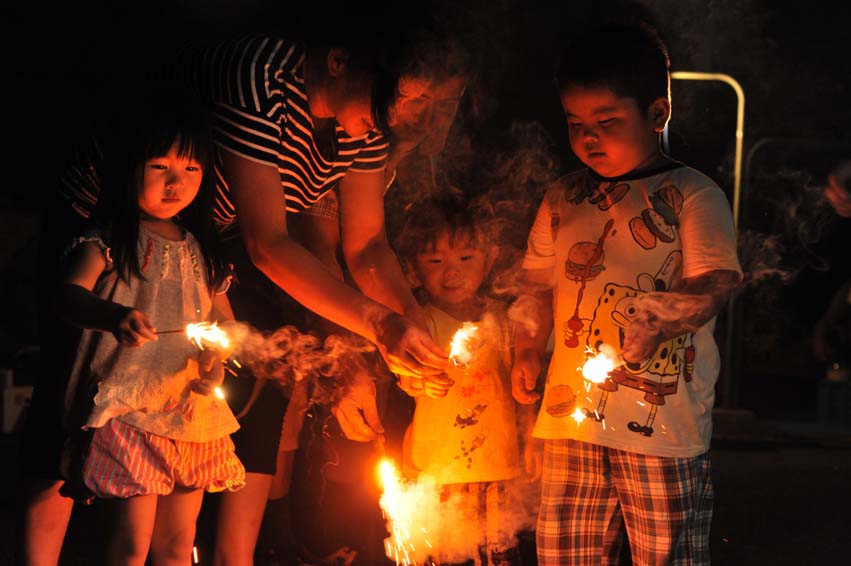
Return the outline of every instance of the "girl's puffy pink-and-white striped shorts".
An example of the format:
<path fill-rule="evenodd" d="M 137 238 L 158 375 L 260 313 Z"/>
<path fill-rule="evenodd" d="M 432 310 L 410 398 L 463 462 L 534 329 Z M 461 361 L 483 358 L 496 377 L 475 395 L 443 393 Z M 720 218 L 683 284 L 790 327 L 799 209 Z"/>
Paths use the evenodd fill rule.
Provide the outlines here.
<path fill-rule="evenodd" d="M 168 495 L 175 486 L 235 491 L 245 468 L 229 436 L 186 442 L 110 419 L 92 436 L 83 481 L 98 497 Z"/>

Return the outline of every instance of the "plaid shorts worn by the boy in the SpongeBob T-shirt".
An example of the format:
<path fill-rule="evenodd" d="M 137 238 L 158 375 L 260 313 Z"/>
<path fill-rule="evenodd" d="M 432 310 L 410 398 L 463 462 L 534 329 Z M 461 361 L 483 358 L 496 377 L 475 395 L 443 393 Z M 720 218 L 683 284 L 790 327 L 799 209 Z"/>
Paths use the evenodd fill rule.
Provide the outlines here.
<path fill-rule="evenodd" d="M 708 454 L 662 458 L 547 440 L 541 488 L 541 566 L 616 566 L 624 526 L 636 566 L 709 564 Z"/>

